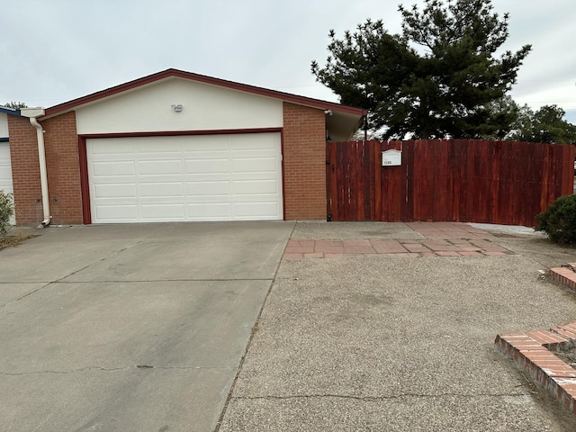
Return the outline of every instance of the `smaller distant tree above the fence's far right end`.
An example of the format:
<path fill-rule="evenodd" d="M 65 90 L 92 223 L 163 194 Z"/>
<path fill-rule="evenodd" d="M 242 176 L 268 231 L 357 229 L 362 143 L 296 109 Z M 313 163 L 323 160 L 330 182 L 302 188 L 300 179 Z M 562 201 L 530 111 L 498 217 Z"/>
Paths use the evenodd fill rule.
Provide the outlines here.
<path fill-rule="evenodd" d="M 508 135 L 509 140 L 576 144 L 576 125 L 563 120 L 566 112 L 556 105 L 545 105 L 534 112 L 524 105 Z"/>

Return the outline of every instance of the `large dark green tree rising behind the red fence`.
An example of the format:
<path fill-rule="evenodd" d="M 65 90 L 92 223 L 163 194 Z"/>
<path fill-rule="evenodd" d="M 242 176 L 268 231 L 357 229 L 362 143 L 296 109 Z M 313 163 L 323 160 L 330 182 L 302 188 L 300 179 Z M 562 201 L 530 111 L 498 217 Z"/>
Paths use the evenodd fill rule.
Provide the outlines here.
<path fill-rule="evenodd" d="M 426 0 L 421 12 L 400 6 L 401 34 L 381 20 L 342 39 L 330 31 L 331 55 L 324 67 L 312 61 L 312 73 L 341 103 L 369 109 L 370 127 L 384 138 L 498 133 L 506 125 L 493 123 L 486 105 L 509 92 L 531 47 L 496 57 L 509 36 L 508 14 L 492 9 L 491 0 Z"/>

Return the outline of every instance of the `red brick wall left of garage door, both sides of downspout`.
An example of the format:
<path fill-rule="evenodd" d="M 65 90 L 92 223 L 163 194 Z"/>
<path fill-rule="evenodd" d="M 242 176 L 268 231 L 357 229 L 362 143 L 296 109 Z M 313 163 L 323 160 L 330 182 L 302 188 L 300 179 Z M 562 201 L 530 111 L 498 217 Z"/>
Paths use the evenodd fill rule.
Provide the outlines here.
<path fill-rule="evenodd" d="M 76 114 L 67 112 L 40 124 L 45 130 L 51 223 L 82 223 Z M 8 130 L 16 223 L 38 225 L 43 220 L 43 211 L 36 129 L 29 119 L 9 115 Z"/>

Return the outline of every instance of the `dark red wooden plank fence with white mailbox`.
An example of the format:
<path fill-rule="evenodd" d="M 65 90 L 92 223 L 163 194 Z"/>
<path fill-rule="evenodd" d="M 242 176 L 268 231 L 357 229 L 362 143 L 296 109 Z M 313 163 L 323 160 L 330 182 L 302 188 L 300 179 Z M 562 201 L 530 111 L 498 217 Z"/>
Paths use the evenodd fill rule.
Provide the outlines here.
<path fill-rule="evenodd" d="M 401 150 L 401 166 L 382 152 Z M 329 220 L 462 221 L 536 226 L 573 193 L 574 147 L 435 139 L 329 142 Z"/>

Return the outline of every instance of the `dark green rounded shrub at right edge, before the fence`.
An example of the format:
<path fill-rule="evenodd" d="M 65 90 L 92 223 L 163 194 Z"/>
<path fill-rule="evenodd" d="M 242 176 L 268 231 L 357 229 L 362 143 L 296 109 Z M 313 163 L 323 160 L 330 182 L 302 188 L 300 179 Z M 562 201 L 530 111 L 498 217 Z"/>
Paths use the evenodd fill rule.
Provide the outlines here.
<path fill-rule="evenodd" d="M 576 245 L 576 195 L 564 195 L 536 216 L 537 231 L 561 245 Z"/>

